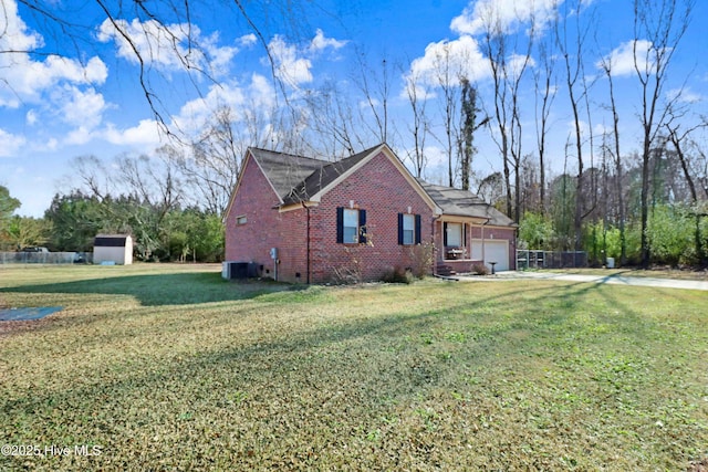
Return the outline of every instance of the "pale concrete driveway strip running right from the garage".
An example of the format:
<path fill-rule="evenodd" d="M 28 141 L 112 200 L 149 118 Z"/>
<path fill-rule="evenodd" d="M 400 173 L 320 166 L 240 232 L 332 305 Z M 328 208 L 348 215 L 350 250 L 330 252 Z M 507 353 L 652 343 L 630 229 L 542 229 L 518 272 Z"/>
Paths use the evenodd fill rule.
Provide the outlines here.
<path fill-rule="evenodd" d="M 554 272 L 500 272 L 488 276 L 458 276 L 460 281 L 512 281 L 512 280 L 552 280 L 566 282 L 587 282 L 611 285 L 655 286 L 663 289 L 704 290 L 708 291 L 708 282 L 684 281 L 675 279 L 625 277 L 622 275 L 580 275 Z"/>

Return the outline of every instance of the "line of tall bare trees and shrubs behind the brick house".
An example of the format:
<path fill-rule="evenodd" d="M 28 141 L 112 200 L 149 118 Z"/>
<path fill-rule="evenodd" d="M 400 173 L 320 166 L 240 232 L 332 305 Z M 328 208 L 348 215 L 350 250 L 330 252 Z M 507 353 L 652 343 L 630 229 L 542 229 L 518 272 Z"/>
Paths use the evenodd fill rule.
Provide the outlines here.
<path fill-rule="evenodd" d="M 521 10 L 509 21 L 501 2 L 478 3 L 487 10 L 466 41 L 478 45 L 485 77 L 472 70 L 480 59 L 452 41 L 437 44 L 428 70 L 357 54 L 347 81 L 309 88 L 273 72 L 283 99 L 272 108 L 222 104 L 197 135 L 179 136 L 150 157 L 116 157 L 111 169 L 104 157 L 76 158 L 79 185 L 55 197 L 44 220 L 61 227 L 58 209 L 75 204 L 72 211 L 92 214 L 94 230 L 134 231 L 142 256 L 173 259 L 187 250 L 170 249 L 169 228 L 177 227 L 169 217 L 221 218 L 248 146 L 334 160 L 386 141 L 416 177 L 497 206 L 520 223 L 531 249 L 585 250 L 596 264 L 613 256 L 621 264 L 705 265 L 708 120 L 688 96 L 686 77 L 671 75 L 695 0 L 633 0 L 628 63 L 601 50 L 596 2 L 558 2 L 543 21 Z M 513 20 L 523 28 L 510 28 Z M 258 23 L 248 23 L 268 51 Z M 632 81 L 629 107 L 618 81 Z M 407 112 L 394 113 L 400 83 Z M 164 111 L 155 114 L 175 132 Z M 551 143 L 562 135 L 554 116 L 570 117 L 561 151 Z M 628 136 L 628 127 L 638 135 Z M 480 141 L 498 155 L 488 175 L 476 170 Z M 433 154 L 441 155 L 442 171 Z"/>

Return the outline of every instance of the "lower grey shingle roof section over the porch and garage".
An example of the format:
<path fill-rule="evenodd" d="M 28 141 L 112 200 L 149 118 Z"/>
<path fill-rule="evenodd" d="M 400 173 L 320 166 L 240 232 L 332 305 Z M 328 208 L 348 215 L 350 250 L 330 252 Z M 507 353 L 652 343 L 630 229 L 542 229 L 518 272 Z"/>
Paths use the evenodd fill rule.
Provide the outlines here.
<path fill-rule="evenodd" d="M 494 227 L 516 227 L 517 223 L 485 200 L 470 192 L 451 187 L 436 186 L 418 179 L 425 191 L 442 209 L 442 214 L 479 218 Z"/>

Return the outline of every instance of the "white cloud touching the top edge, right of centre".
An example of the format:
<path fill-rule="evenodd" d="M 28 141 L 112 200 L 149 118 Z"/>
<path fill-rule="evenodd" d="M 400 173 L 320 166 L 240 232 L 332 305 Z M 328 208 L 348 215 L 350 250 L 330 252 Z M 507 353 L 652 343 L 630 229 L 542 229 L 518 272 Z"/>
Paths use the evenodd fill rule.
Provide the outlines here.
<path fill-rule="evenodd" d="M 545 28 L 563 0 L 477 0 L 452 19 L 450 29 L 459 34 L 513 33 L 533 20 Z M 585 3 L 590 3 L 586 1 Z"/>

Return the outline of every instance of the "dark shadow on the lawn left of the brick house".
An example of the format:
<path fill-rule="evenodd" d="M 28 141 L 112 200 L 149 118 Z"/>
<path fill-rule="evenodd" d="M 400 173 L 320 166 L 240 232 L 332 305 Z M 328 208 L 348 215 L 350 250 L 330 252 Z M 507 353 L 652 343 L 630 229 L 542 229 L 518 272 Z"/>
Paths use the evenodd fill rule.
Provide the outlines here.
<path fill-rule="evenodd" d="M 268 293 L 304 289 L 306 286 L 277 282 L 225 281 L 220 273 L 195 272 L 42 283 L 1 287 L 0 293 L 129 295 L 143 306 L 163 306 L 249 300 Z"/>

